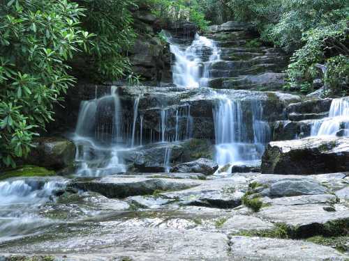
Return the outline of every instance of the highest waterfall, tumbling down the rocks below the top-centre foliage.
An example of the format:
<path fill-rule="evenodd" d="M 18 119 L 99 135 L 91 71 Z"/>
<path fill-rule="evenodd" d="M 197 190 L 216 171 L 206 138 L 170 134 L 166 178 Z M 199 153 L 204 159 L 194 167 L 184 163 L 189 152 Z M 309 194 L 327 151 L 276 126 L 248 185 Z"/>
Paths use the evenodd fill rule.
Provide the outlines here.
<path fill-rule="evenodd" d="M 198 34 L 190 46 L 177 45 L 168 35 L 170 52 L 174 54 L 173 83 L 187 88 L 207 87 L 211 63 L 219 61 L 221 49 L 214 40 Z M 209 54 L 209 57 L 206 58 Z"/>

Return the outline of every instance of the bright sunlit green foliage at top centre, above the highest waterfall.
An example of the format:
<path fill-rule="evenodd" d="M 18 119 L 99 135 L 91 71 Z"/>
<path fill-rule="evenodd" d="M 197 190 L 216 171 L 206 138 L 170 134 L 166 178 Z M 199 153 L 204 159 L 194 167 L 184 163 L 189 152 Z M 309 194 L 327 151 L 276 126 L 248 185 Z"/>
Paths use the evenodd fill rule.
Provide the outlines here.
<path fill-rule="evenodd" d="M 205 30 L 209 22 L 200 8 L 200 1 L 190 0 L 148 0 L 154 15 L 163 24 L 190 21 Z"/>

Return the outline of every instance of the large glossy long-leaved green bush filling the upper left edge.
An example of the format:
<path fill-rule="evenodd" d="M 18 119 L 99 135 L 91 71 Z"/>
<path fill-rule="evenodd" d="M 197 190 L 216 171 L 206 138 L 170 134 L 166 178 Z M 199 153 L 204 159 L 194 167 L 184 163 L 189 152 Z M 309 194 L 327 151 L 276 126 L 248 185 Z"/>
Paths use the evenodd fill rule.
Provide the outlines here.
<path fill-rule="evenodd" d="M 26 157 L 36 129 L 52 120 L 73 77 L 68 58 L 92 35 L 80 29 L 83 9 L 66 0 L 8 0 L 0 6 L 0 167 Z"/>

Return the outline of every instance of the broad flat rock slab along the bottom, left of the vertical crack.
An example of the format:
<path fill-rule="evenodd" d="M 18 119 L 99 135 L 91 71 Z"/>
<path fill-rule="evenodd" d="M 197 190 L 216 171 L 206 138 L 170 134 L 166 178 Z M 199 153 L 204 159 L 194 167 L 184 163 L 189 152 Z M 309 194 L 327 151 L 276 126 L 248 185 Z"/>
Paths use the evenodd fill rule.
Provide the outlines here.
<path fill-rule="evenodd" d="M 1 248 L 0 253 L 66 255 L 68 260 L 228 260 L 228 238 L 215 232 L 163 228 L 115 228 L 106 222 L 89 235 Z M 0 254 L 1 258 L 1 254 Z"/>

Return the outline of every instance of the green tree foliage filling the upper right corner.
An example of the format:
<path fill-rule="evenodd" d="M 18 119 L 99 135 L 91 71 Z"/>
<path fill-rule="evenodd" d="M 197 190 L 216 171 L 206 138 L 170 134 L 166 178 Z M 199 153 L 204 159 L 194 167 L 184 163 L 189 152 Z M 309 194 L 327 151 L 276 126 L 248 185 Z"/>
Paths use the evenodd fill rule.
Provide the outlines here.
<path fill-rule="evenodd" d="M 348 1 L 230 0 L 229 6 L 235 19 L 257 26 L 262 40 L 293 53 L 287 88 L 309 93 L 313 79 L 322 77 L 333 95 L 348 93 Z M 330 69 L 326 75 L 318 64 Z"/>

